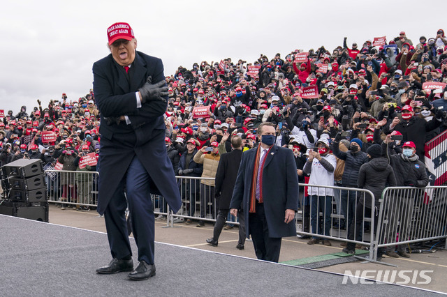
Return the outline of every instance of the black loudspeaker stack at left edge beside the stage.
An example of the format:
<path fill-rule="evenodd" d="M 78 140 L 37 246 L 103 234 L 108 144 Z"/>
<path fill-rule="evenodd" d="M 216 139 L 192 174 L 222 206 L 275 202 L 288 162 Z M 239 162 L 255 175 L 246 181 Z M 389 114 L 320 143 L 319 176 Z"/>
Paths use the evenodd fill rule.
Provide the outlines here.
<path fill-rule="evenodd" d="M 20 159 L 1 167 L 0 214 L 48 222 L 48 197 L 41 160 Z"/>

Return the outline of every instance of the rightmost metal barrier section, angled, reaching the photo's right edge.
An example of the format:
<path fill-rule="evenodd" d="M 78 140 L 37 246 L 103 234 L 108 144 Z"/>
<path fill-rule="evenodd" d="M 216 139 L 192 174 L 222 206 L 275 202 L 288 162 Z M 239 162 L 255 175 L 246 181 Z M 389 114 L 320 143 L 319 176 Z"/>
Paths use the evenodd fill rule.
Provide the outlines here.
<path fill-rule="evenodd" d="M 447 238 L 447 186 L 388 187 L 381 200 L 375 250 Z"/>

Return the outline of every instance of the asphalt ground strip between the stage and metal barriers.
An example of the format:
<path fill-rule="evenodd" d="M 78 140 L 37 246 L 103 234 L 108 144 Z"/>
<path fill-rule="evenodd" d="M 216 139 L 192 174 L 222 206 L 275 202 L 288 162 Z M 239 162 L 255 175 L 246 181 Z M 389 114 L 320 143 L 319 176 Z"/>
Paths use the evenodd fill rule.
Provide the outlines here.
<path fill-rule="evenodd" d="M 73 208 L 66 208 L 62 211 L 54 204 L 50 204 L 49 220 L 52 224 L 60 224 L 64 226 L 77 227 L 81 229 L 88 229 L 93 231 L 105 232 L 104 219 L 101 218 L 96 211 L 75 211 Z M 161 243 L 170 243 L 189 248 L 198 248 L 200 250 L 209 250 L 223 254 L 235 254 L 237 256 L 254 258 L 254 248 L 251 241 L 245 242 L 244 250 L 237 250 L 238 229 L 234 227 L 230 230 L 222 230 L 219 238 L 219 245 L 213 247 L 206 243 L 206 239 L 212 237 L 213 225 L 210 222 L 205 222 L 205 227 L 196 227 L 196 222 L 193 224 L 178 223 L 174 227 L 166 227 L 165 221 L 155 222 L 155 241 Z M 281 255 L 279 262 L 286 262 L 286 264 L 302 264 L 316 261 L 323 261 L 334 258 L 334 255 L 342 254 L 342 247 L 339 241 L 331 241 L 332 246 L 325 245 L 307 245 L 307 240 L 298 239 L 297 237 L 283 238 L 281 243 Z M 435 250 L 435 249 L 433 249 Z M 134 251 L 136 253 L 136 251 Z M 155 255 L 156 259 L 156 255 Z M 410 287 L 418 287 L 432 291 L 441 291 L 447 293 L 447 284 L 445 282 L 445 275 L 447 275 L 447 252 L 446 250 L 437 250 L 432 253 L 411 254 L 409 259 L 405 258 L 390 258 L 383 257 L 385 264 L 393 264 L 394 266 L 386 266 L 384 264 L 376 264 L 365 261 L 353 261 L 344 264 L 336 264 L 317 268 L 320 271 L 329 271 L 333 273 L 346 274 L 346 271 L 351 271 L 356 275 L 356 271 L 363 272 L 363 276 L 367 278 L 376 279 L 379 275 L 393 274 L 397 271 L 397 275 L 402 273 L 409 276 Z M 417 271 L 415 273 L 415 271 Z M 420 271 L 428 271 L 425 275 L 430 276 L 428 284 L 420 284 L 418 282 L 426 282 L 426 279 L 415 277 L 420 275 Z M 361 272 L 357 272 L 357 274 Z M 381 278 L 383 280 L 383 278 Z M 388 278 L 390 280 L 390 278 Z M 404 278 L 395 277 L 395 282 L 402 282 Z"/>

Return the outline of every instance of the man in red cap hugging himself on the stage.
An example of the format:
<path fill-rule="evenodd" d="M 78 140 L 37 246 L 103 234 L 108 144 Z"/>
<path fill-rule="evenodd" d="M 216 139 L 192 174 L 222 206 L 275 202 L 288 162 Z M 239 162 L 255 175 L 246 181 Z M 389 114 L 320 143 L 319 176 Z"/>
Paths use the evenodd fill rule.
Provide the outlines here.
<path fill-rule="evenodd" d="M 182 204 L 164 142 L 168 87 L 161 59 L 136 51 L 129 24 L 112 24 L 107 33 L 111 54 L 94 63 L 93 86 L 101 112 L 97 210 L 104 214 L 112 261 L 96 273 L 131 271 L 131 280 L 146 280 L 155 275 L 150 194 L 165 197 L 174 213 Z M 127 207 L 140 261 L 135 269 Z"/>

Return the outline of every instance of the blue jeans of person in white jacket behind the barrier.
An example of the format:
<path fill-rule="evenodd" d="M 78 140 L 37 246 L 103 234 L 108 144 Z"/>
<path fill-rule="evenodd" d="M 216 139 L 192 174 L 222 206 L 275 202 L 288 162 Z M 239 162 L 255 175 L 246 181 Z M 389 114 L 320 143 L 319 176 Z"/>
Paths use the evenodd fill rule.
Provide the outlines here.
<path fill-rule="evenodd" d="M 332 213 L 332 196 L 317 196 L 312 195 L 311 210 L 310 210 L 310 223 L 312 225 L 312 233 L 323 234 L 329 236 L 330 234 L 330 215 Z M 321 227 L 321 218 L 319 212 L 323 212 L 323 228 Z M 314 236 L 318 238 L 318 236 Z"/>

